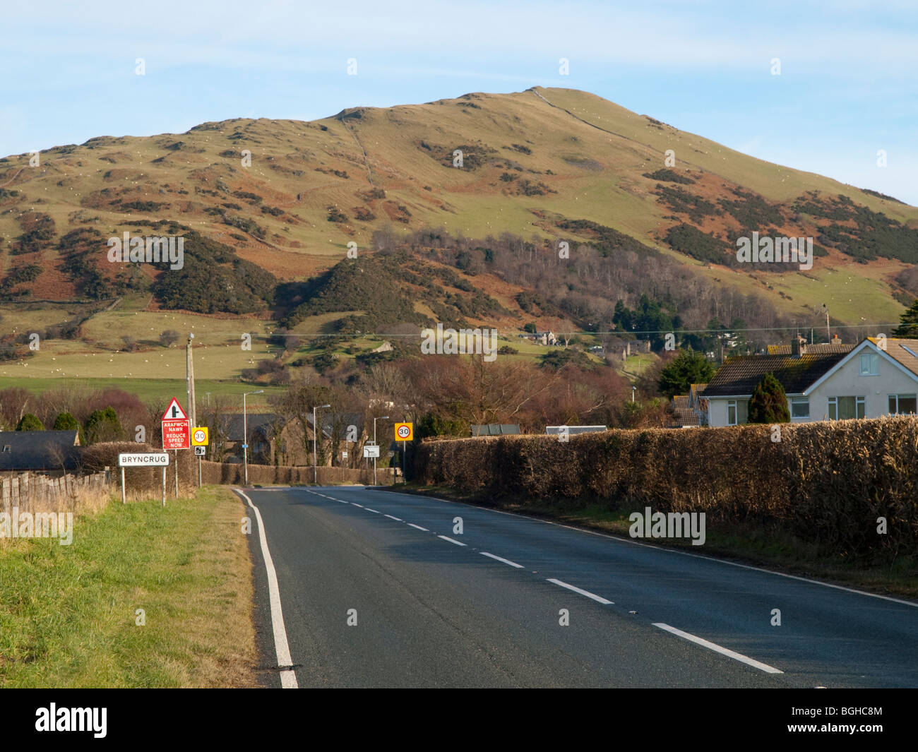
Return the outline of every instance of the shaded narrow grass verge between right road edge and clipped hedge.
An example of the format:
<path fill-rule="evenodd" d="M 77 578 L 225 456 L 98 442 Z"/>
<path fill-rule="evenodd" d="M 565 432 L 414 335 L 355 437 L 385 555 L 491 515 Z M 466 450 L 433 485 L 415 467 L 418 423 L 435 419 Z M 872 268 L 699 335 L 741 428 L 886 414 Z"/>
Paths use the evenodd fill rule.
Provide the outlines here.
<path fill-rule="evenodd" d="M 628 515 L 635 510 L 612 510 L 606 504 L 584 503 L 559 506 L 548 499 L 486 499 L 456 488 L 442 486 L 396 485 L 388 487 L 402 493 L 439 496 L 442 499 L 512 511 L 586 530 L 598 530 L 622 538 L 629 537 Z M 643 510 L 640 510 L 643 511 Z M 642 544 L 681 548 L 700 556 L 717 556 L 754 567 L 765 567 L 785 574 L 821 579 L 848 588 L 868 590 L 880 595 L 918 599 L 918 558 L 902 556 L 892 565 L 869 566 L 845 561 L 840 556 L 825 556 L 818 546 L 800 541 L 778 529 L 763 530 L 757 525 L 734 525 L 718 530 L 707 525 L 705 544 L 689 540 L 641 540 Z"/>

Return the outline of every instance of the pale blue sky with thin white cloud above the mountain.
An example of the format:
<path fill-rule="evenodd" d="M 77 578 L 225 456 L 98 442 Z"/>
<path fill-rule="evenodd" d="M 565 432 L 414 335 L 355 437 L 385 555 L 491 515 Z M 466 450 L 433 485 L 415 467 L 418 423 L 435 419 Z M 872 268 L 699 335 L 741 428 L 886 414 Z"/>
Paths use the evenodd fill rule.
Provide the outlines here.
<path fill-rule="evenodd" d="M 4 156 L 563 86 L 918 205 L 918 0 L 38 0 L 3 39 Z"/>

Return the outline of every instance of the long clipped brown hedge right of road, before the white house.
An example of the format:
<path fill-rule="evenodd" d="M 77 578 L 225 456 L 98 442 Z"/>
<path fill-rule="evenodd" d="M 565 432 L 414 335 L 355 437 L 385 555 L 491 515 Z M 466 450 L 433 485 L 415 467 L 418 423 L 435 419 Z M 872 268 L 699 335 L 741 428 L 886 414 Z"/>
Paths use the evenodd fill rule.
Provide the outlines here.
<path fill-rule="evenodd" d="M 778 442 L 769 425 L 428 440 L 416 477 L 481 497 L 704 511 L 709 526 L 761 523 L 855 560 L 918 553 L 918 418 L 779 428 Z"/>

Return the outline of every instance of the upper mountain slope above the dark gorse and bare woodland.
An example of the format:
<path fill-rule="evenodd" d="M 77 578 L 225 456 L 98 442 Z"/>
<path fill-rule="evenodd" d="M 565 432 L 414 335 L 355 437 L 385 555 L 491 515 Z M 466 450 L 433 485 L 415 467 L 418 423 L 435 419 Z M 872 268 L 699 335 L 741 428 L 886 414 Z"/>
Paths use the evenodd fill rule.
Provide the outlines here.
<path fill-rule="evenodd" d="M 349 241 L 367 253 L 375 231 L 425 227 L 566 240 L 572 253 L 616 230 L 804 325 L 822 303 L 840 323 L 894 321 L 916 292 L 902 273 L 918 260 L 918 209 L 568 89 L 100 137 L 41 152 L 37 167 L 0 160 L 0 186 L 0 295 L 14 300 L 114 297 L 155 290 L 157 276 L 162 288 L 151 268 L 117 282 L 105 240 L 126 230 L 193 230 L 301 280 Z M 735 238 L 753 230 L 813 235 L 823 255 L 805 272 L 738 266 Z"/>

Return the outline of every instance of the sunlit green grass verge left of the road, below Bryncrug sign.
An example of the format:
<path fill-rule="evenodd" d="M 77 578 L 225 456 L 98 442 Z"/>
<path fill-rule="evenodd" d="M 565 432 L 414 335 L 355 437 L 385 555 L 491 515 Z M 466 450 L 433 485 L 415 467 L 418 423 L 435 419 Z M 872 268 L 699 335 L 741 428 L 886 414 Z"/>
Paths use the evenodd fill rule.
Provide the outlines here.
<path fill-rule="evenodd" d="M 0 687 L 257 686 L 242 516 L 207 487 L 82 515 L 71 545 L 0 550 Z"/>

